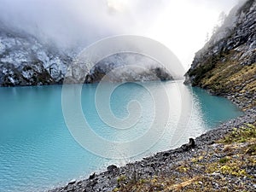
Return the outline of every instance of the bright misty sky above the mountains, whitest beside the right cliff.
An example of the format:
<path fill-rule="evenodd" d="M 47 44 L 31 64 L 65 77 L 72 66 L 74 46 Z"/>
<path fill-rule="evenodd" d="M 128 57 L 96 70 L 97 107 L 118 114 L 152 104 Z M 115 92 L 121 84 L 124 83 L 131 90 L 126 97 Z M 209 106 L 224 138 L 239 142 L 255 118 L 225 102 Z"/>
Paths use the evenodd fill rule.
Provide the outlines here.
<path fill-rule="evenodd" d="M 188 68 L 239 0 L 0 0 L 0 20 L 63 49 L 132 34 L 165 44 Z"/>

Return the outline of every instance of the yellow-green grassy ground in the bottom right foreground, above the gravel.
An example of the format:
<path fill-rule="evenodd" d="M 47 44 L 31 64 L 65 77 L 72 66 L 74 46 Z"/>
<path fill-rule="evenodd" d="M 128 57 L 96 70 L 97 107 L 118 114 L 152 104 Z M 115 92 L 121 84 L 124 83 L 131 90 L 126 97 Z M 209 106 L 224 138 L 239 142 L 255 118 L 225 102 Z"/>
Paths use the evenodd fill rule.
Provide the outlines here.
<path fill-rule="evenodd" d="M 253 191 L 256 187 L 256 122 L 245 124 L 210 145 L 208 150 L 177 162 L 173 174 L 120 175 L 113 192 Z"/>

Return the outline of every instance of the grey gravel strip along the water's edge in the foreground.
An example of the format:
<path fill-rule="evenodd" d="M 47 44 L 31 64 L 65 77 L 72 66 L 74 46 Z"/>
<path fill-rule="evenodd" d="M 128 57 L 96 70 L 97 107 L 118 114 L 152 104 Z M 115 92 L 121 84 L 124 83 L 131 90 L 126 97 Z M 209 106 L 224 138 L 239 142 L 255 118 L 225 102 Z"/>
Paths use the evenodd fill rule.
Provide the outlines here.
<path fill-rule="evenodd" d="M 244 115 L 236 119 L 219 125 L 215 130 L 208 131 L 207 133 L 195 138 L 195 148 L 176 148 L 168 151 L 154 154 L 153 156 L 143 158 L 143 160 L 129 163 L 125 166 L 116 167 L 109 166 L 108 171 L 101 173 L 91 174 L 88 179 L 82 181 L 72 181 L 66 186 L 49 190 L 50 192 L 56 191 L 125 191 L 119 190 L 122 180 L 126 183 L 134 181 L 142 181 L 147 178 L 165 177 L 166 175 L 179 177 L 180 172 L 173 170 L 173 167 L 181 165 L 181 162 L 192 160 L 199 157 L 200 154 L 206 154 L 209 151 L 221 148 L 220 144 L 216 141 L 223 138 L 226 134 L 233 131 L 234 127 L 240 128 L 245 124 L 255 124 L 256 121 L 256 108 L 248 109 Z M 223 146 L 222 146 L 223 147 Z M 216 152 L 215 152 L 216 153 Z M 222 151 L 213 155 L 214 160 L 219 160 L 224 154 Z M 243 179 L 242 182 L 246 183 L 247 191 L 255 189 L 255 166 L 250 170 L 253 172 L 254 184 L 249 179 Z M 191 173 L 192 174 L 192 173 Z M 234 178 L 230 177 L 230 181 Z M 237 182 L 237 181 L 236 181 Z M 218 183 L 217 185 L 218 186 Z M 217 187 L 217 189 L 220 186 Z M 163 188 L 164 189 L 164 188 Z M 232 189 L 232 188 L 231 188 Z M 159 191 L 153 189 L 152 191 Z M 162 191 L 162 190 L 160 190 Z"/>

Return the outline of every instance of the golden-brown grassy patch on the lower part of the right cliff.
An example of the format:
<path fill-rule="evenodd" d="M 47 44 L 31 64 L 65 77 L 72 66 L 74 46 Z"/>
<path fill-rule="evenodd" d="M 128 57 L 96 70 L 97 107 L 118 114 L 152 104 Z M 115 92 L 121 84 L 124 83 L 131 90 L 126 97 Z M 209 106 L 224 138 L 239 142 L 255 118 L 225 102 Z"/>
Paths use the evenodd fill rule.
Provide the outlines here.
<path fill-rule="evenodd" d="M 256 63 L 241 65 L 237 56 L 233 50 L 210 57 L 205 61 L 207 65 L 196 67 L 189 75 L 195 75 L 193 85 L 217 95 L 236 96 L 236 101 L 247 104 L 243 109 L 256 107 L 256 100 L 253 99 L 256 92 Z"/>

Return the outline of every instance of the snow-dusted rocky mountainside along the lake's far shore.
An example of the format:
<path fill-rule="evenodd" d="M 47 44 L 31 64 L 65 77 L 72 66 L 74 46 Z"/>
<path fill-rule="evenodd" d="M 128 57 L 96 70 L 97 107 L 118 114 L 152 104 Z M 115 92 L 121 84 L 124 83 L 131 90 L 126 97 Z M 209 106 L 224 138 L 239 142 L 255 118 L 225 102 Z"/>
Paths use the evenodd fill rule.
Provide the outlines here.
<path fill-rule="evenodd" d="M 112 82 L 172 79 L 164 67 L 142 55 L 108 56 L 91 69 L 83 61 L 73 62 L 71 55 L 0 23 L 0 86 L 62 84 L 65 76 L 65 83 L 83 83 L 85 77 L 84 83 L 95 83 L 106 74 L 105 80 Z M 125 67 L 130 64 L 137 67 Z"/>

